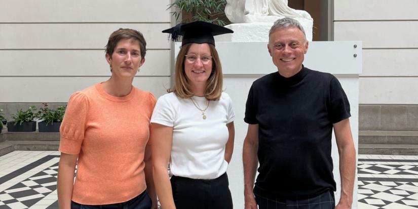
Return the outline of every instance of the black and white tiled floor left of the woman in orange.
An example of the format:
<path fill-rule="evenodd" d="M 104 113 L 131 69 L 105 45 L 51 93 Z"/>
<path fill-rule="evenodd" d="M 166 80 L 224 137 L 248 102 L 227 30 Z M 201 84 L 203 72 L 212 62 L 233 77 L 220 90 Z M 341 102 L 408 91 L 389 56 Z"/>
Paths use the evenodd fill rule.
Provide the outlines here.
<path fill-rule="evenodd" d="M 14 151 L 0 156 L 0 209 L 58 208 L 57 151 Z"/>

